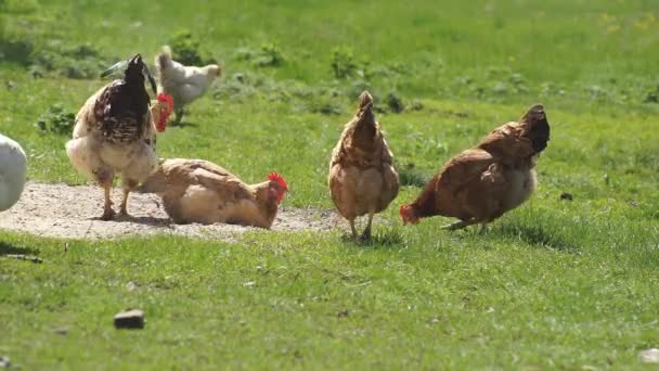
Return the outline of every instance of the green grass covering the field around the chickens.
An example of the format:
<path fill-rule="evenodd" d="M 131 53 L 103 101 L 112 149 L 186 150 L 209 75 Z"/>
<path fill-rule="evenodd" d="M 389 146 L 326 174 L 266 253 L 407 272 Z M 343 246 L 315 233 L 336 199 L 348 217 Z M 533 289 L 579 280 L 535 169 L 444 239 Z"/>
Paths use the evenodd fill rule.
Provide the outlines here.
<path fill-rule="evenodd" d="M 151 61 L 180 30 L 225 74 L 186 126 L 158 138 L 161 156 L 207 158 L 247 181 L 277 170 L 286 204 L 332 207 L 327 161 L 354 98 L 367 87 L 386 110 L 395 92 L 408 110 L 378 119 L 410 186 L 384 213 L 392 225 L 367 245 L 339 232 L 229 244 L 0 231 L 0 356 L 30 370 L 635 369 L 659 346 L 650 1 L 0 0 L 0 132 L 26 149 L 29 178 L 85 182 L 67 136 L 35 125 L 105 84 L 67 78 L 76 62 L 62 46 L 89 43 L 96 54 L 80 63 L 93 71 L 134 52 Z M 259 66 L 263 44 L 284 62 Z M 352 76 L 335 77 L 335 50 L 352 55 Z M 486 234 L 440 230 L 444 218 L 400 226 L 397 206 L 424 179 L 535 102 L 553 131 L 531 201 Z M 43 263 L 5 257 L 16 253 Z M 113 329 L 128 307 L 145 310 L 144 330 Z"/>

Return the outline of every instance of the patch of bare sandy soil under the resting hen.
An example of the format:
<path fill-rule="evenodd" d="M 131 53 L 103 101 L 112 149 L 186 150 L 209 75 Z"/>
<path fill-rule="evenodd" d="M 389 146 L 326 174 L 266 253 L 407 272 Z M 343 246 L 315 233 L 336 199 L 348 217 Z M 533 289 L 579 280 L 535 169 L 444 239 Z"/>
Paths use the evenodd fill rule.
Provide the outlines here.
<path fill-rule="evenodd" d="M 115 208 L 121 190 L 115 189 Z M 103 191 L 92 186 L 28 183 L 21 200 L 0 213 L 0 229 L 28 232 L 41 236 L 69 239 L 106 239 L 125 235 L 168 233 L 235 241 L 242 233 L 262 229 L 231 225 L 175 225 L 169 220 L 155 194 L 131 193 L 128 218 L 103 221 Z M 338 222 L 338 226 L 337 226 Z M 345 221 L 334 210 L 282 206 L 272 230 L 326 231 L 344 228 Z"/>

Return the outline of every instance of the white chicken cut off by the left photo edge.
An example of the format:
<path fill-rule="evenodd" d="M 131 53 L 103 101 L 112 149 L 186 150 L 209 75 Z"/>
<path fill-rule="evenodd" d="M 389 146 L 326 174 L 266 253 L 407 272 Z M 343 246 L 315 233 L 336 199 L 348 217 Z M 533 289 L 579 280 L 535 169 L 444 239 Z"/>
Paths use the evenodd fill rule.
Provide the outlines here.
<path fill-rule="evenodd" d="M 18 202 L 26 169 L 27 159 L 21 144 L 0 135 L 0 212 Z"/>

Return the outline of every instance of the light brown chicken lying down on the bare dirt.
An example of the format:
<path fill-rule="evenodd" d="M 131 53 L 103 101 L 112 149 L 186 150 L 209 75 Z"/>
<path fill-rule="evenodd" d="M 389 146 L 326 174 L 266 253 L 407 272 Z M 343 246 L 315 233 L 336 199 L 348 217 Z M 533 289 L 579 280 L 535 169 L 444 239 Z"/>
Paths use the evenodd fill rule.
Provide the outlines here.
<path fill-rule="evenodd" d="M 250 186 L 214 163 L 173 158 L 163 162 L 141 191 L 157 193 L 177 223 L 224 222 L 269 229 L 288 186 L 276 172 Z"/>

